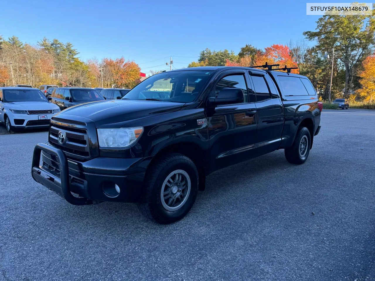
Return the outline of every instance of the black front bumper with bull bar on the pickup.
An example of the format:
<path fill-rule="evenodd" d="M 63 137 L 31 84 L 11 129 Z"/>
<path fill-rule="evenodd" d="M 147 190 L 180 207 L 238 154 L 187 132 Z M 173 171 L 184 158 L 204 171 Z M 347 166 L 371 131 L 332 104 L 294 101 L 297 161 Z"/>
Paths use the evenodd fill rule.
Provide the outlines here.
<path fill-rule="evenodd" d="M 139 202 L 150 161 L 151 158 L 98 157 L 77 162 L 66 158 L 62 150 L 39 143 L 34 148 L 31 175 L 36 182 L 73 205 L 102 201 Z M 119 193 L 113 193 L 115 185 Z"/>

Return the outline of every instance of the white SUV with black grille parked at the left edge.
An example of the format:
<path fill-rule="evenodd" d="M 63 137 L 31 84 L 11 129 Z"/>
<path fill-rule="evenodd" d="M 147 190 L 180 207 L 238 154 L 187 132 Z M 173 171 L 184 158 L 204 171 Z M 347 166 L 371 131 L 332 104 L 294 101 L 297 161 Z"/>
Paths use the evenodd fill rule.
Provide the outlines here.
<path fill-rule="evenodd" d="M 49 120 L 57 112 L 60 108 L 50 103 L 39 89 L 0 88 L 0 122 L 8 132 L 48 127 Z"/>

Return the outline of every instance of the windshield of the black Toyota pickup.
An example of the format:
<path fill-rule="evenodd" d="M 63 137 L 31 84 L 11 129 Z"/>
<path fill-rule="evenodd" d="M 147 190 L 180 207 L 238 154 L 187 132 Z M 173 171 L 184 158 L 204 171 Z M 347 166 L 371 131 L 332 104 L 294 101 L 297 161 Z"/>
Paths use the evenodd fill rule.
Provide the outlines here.
<path fill-rule="evenodd" d="M 123 99 L 193 102 L 199 96 L 212 73 L 212 71 L 207 70 L 159 73 L 136 85 Z"/>

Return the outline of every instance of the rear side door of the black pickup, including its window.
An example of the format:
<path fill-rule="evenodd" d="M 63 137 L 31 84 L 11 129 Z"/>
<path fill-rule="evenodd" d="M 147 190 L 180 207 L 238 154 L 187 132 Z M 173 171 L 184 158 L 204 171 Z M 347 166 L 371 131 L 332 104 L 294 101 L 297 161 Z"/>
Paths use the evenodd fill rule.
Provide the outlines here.
<path fill-rule="evenodd" d="M 267 73 L 249 72 L 255 91 L 258 131 L 255 146 L 260 154 L 277 149 L 284 126 L 284 108 L 276 86 Z"/>

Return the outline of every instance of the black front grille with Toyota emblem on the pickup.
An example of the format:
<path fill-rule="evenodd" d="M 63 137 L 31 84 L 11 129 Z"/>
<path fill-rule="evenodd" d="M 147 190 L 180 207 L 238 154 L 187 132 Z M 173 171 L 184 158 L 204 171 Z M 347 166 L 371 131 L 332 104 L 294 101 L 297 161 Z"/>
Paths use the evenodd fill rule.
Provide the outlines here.
<path fill-rule="evenodd" d="M 61 118 L 58 118 L 61 119 Z M 58 120 L 55 120 L 58 121 Z M 67 120 L 70 121 L 73 120 Z M 77 122 L 77 121 L 75 121 Z M 65 136 L 65 141 L 60 143 L 58 141 L 58 134 L 63 133 Z M 78 157 L 89 157 L 90 150 L 89 150 L 89 141 L 87 138 L 87 130 L 81 128 L 74 128 L 69 126 L 63 126 L 60 124 L 51 123 L 49 127 L 49 142 L 51 142 L 57 148 L 62 149 L 65 152 L 72 154 L 72 156 Z"/>

